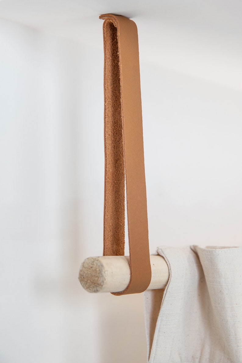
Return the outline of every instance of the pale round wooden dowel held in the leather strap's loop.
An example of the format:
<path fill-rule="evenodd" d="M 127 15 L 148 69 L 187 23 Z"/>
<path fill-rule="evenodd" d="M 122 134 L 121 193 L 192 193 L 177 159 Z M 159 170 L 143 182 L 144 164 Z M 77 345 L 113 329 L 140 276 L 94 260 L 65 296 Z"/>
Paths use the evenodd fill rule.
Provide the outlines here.
<path fill-rule="evenodd" d="M 161 256 L 150 256 L 151 283 L 148 290 L 163 289 L 168 282 L 169 270 Z M 116 293 L 123 291 L 130 281 L 128 256 L 89 257 L 79 271 L 82 287 L 90 293 Z"/>

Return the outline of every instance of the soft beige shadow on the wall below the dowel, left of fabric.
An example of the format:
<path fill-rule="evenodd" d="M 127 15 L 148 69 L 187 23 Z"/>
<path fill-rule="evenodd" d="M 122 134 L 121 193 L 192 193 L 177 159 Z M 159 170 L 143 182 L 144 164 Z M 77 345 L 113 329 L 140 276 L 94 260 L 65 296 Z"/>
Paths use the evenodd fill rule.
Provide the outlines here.
<path fill-rule="evenodd" d="M 143 294 L 100 294 L 100 363 L 146 363 Z"/>

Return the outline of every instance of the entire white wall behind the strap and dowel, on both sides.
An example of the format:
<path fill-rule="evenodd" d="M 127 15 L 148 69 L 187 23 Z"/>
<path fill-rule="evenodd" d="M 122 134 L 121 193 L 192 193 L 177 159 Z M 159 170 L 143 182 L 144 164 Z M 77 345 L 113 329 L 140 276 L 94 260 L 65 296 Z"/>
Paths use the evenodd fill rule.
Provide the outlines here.
<path fill-rule="evenodd" d="M 241 91 L 144 52 L 151 253 L 241 245 Z M 1 20 L 0 53 L 0 361 L 145 362 L 142 295 L 77 280 L 102 254 L 103 51 Z"/>

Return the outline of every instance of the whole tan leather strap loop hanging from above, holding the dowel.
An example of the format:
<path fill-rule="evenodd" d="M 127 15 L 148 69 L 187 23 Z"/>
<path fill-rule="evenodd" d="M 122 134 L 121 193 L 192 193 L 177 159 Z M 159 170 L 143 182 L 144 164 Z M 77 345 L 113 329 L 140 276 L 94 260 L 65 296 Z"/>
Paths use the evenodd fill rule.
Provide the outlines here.
<path fill-rule="evenodd" d="M 138 32 L 134 21 L 105 14 L 103 255 L 124 255 L 124 188 L 131 279 L 115 295 L 140 293 L 151 281 L 144 173 Z"/>

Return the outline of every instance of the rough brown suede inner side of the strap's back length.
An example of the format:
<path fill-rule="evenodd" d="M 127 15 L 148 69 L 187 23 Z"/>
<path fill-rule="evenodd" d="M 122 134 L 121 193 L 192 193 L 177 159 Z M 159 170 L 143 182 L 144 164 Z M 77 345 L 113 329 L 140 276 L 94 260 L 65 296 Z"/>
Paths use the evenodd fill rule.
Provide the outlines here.
<path fill-rule="evenodd" d="M 124 151 L 117 28 L 104 23 L 104 250 L 105 256 L 124 255 Z"/>

